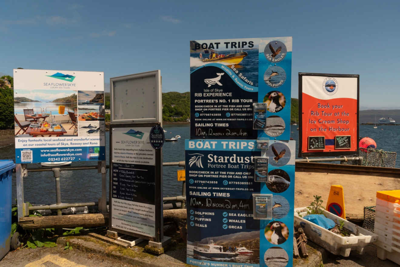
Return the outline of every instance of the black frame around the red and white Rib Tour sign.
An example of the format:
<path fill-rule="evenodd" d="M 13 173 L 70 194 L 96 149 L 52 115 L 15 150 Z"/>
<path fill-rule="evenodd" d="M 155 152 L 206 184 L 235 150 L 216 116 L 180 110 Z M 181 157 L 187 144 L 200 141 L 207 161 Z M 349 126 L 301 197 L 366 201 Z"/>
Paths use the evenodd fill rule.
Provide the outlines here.
<path fill-rule="evenodd" d="M 356 151 L 325 151 L 325 152 L 302 152 L 302 149 L 308 148 L 308 144 L 303 144 L 303 132 L 302 132 L 302 117 L 303 117 L 303 105 L 302 105 L 302 92 L 303 92 L 303 76 L 326 76 L 334 78 L 357 78 L 357 136 L 360 135 L 359 115 L 360 115 L 360 75 L 359 74 L 329 74 L 329 73 L 306 73 L 298 72 L 298 95 L 299 95 L 299 150 L 298 157 L 327 157 L 327 156 L 346 156 L 346 155 L 358 155 L 359 144 L 356 142 Z"/>

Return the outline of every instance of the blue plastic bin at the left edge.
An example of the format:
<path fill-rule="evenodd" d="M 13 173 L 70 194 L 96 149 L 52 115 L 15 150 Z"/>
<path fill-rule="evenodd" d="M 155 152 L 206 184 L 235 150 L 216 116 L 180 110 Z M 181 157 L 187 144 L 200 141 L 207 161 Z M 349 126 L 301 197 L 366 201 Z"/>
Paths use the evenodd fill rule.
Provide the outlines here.
<path fill-rule="evenodd" d="M 10 251 L 12 160 L 0 160 L 0 259 Z"/>

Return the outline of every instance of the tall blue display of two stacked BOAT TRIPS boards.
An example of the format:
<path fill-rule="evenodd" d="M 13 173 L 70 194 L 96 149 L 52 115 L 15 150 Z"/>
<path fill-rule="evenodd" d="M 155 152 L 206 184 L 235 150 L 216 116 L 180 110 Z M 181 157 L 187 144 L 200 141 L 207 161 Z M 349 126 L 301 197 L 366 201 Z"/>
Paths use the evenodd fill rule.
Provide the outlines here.
<path fill-rule="evenodd" d="M 291 60 L 291 37 L 190 41 L 188 264 L 292 266 Z"/>

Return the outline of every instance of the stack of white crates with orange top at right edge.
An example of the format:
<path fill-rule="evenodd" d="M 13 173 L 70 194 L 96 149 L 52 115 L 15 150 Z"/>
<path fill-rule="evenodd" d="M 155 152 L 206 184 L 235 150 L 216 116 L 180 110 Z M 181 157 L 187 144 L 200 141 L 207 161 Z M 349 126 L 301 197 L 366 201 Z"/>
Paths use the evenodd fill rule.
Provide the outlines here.
<path fill-rule="evenodd" d="M 376 192 L 374 230 L 378 258 L 400 265 L 400 190 Z"/>

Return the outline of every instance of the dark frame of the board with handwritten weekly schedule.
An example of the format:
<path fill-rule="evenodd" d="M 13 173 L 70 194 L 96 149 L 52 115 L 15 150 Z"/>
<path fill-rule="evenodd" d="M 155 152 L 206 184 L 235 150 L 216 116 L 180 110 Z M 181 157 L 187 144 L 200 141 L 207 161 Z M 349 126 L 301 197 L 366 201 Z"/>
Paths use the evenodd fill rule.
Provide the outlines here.
<path fill-rule="evenodd" d="M 150 241 L 161 242 L 164 237 L 163 231 L 163 206 L 162 206 L 162 148 L 154 149 L 155 151 L 155 170 L 154 170 L 154 181 L 155 181 L 155 199 L 154 199 L 154 208 L 155 208 L 155 237 L 149 237 L 146 235 L 141 235 L 139 233 L 132 233 L 128 231 L 124 231 L 121 229 L 117 229 L 112 227 L 112 173 L 113 173 L 113 161 L 112 161 L 112 151 L 113 151 L 113 142 L 112 142 L 112 128 L 126 128 L 126 127 L 152 127 L 155 125 L 160 125 L 160 123 L 127 123 L 127 124 L 111 124 L 110 125 L 110 170 L 109 170 L 109 223 L 108 228 L 110 231 L 115 231 L 118 233 L 122 233 L 125 235 L 130 235 L 133 237 L 138 237 Z"/>

